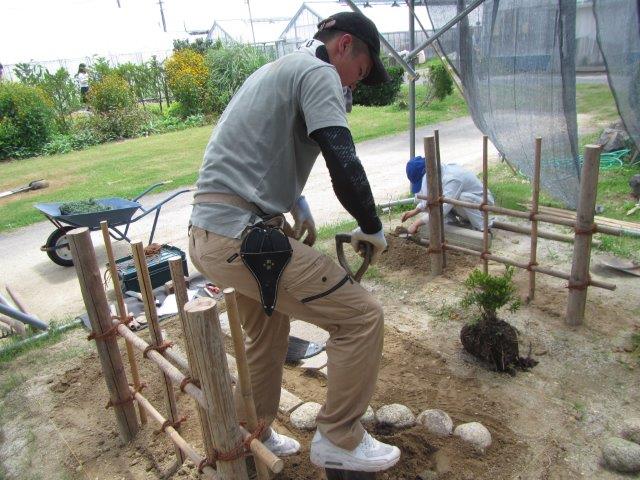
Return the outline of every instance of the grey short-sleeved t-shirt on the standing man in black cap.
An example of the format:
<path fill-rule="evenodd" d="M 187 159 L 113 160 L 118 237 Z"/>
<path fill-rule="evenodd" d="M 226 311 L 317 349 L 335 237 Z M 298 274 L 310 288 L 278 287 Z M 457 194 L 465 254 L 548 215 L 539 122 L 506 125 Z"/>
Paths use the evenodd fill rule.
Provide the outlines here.
<path fill-rule="evenodd" d="M 344 95 L 335 67 L 315 56 L 322 43 L 254 72 L 231 99 L 213 130 L 200 168 L 197 191 L 232 193 L 266 214 L 291 210 L 320 153 L 309 134 L 347 127 Z M 259 218 L 222 204 L 196 204 L 195 226 L 238 238 Z"/>

